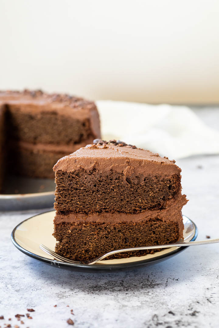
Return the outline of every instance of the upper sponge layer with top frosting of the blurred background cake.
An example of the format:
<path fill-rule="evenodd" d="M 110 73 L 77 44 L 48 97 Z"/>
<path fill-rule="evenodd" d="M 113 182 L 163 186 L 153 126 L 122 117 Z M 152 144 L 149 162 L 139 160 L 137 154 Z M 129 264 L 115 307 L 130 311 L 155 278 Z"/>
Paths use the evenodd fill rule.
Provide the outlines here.
<path fill-rule="evenodd" d="M 7 104 L 8 136 L 33 143 L 72 143 L 99 137 L 94 102 L 68 95 L 0 92 Z"/>

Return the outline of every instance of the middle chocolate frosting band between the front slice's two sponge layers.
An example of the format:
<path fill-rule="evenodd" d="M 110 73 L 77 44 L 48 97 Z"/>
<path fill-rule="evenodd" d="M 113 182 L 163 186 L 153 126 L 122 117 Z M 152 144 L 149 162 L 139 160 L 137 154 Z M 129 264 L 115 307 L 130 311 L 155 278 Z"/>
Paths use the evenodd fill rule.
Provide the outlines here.
<path fill-rule="evenodd" d="M 159 218 L 162 221 L 177 222 L 179 224 L 180 236 L 183 233 L 182 222 L 182 207 L 187 203 L 186 195 L 177 193 L 173 198 L 166 201 L 165 208 L 163 209 L 149 209 L 137 214 L 126 213 L 69 213 L 68 215 L 59 214 L 55 215 L 54 223 L 84 223 L 84 222 L 99 222 L 99 223 L 118 223 L 118 222 L 145 222 L 150 219 Z"/>

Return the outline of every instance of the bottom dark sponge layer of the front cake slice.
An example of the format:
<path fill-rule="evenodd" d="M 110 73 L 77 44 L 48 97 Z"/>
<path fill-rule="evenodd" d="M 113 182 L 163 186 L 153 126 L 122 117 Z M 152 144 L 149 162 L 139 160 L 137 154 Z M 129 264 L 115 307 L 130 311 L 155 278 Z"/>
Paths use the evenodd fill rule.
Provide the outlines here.
<path fill-rule="evenodd" d="M 140 246 L 174 243 L 179 239 L 177 222 L 155 218 L 144 222 L 55 223 L 55 252 L 76 261 L 91 260 L 107 252 Z M 158 250 L 154 250 L 158 251 Z M 153 250 L 127 252 L 109 258 L 143 256 Z"/>

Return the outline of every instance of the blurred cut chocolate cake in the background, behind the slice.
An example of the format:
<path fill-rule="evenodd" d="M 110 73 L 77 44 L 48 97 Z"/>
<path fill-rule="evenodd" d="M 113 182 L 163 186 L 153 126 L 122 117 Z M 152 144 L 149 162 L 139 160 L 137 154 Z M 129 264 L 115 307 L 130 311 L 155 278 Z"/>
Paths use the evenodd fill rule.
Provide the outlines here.
<path fill-rule="evenodd" d="M 97 107 L 82 98 L 7 91 L 0 92 L 0 104 L 0 152 L 10 174 L 54 178 L 60 157 L 100 137 Z"/>

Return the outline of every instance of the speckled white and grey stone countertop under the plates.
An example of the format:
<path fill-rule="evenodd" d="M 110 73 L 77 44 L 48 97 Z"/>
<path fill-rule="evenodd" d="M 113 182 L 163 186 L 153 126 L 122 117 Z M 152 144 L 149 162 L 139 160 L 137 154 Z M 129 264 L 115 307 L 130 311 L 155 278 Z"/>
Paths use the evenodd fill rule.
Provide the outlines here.
<path fill-rule="evenodd" d="M 218 122 L 219 110 L 201 111 L 208 124 L 209 115 L 212 125 Z M 190 157 L 177 165 L 189 199 L 183 214 L 197 224 L 199 240 L 219 237 L 219 156 Z M 39 212 L 0 212 L 1 327 L 67 328 L 69 318 L 81 328 L 219 326 L 219 244 L 189 247 L 132 271 L 65 271 L 24 255 L 11 243 L 14 226 Z M 27 308 L 35 310 L 33 319 L 26 317 Z M 24 324 L 16 314 L 25 314 Z"/>

